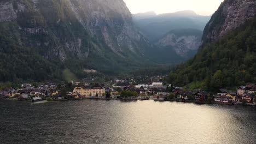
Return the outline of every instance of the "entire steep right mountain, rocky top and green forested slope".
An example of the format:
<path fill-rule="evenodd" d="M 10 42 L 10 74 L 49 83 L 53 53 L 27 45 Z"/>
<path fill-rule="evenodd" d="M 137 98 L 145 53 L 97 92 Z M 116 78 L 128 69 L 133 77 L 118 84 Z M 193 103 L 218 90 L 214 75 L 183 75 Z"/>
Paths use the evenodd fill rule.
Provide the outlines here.
<path fill-rule="evenodd" d="M 203 32 L 196 56 L 178 65 L 170 82 L 217 91 L 256 81 L 256 1 L 225 0 Z"/>

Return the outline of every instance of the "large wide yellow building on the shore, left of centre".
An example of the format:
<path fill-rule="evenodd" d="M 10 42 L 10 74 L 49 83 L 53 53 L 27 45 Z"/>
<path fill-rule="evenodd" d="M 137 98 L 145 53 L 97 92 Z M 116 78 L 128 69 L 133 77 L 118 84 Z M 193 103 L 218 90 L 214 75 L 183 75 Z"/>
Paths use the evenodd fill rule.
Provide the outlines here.
<path fill-rule="evenodd" d="M 105 93 L 105 88 L 103 88 L 101 85 L 96 84 L 92 87 L 90 86 L 77 86 L 73 89 L 73 92 L 78 92 L 82 96 L 96 96 L 98 94 L 98 97 L 102 97 L 103 93 Z"/>

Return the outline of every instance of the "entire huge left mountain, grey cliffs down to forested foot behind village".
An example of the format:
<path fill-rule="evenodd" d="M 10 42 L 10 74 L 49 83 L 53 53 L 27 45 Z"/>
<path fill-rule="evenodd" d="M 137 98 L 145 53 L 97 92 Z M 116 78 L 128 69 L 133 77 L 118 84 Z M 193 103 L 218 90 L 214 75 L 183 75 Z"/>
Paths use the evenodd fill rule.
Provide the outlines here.
<path fill-rule="evenodd" d="M 123 1 L 0 1 L 0 81 L 119 73 L 145 65 L 150 47 Z"/>

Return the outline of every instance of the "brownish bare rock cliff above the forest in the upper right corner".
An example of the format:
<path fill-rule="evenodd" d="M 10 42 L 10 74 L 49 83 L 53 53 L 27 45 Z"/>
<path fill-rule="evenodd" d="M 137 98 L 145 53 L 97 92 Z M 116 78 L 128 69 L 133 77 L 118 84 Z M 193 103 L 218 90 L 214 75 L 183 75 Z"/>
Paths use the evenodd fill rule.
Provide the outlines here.
<path fill-rule="evenodd" d="M 222 39 L 225 34 L 240 27 L 255 14 L 255 0 L 225 0 L 207 23 L 202 43 Z"/>

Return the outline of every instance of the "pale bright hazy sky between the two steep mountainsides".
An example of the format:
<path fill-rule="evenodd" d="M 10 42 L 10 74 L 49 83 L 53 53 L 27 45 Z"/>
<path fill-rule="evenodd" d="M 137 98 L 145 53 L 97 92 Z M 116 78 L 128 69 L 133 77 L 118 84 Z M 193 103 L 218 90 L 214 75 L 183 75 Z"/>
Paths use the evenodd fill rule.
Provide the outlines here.
<path fill-rule="evenodd" d="M 124 0 L 132 14 L 155 11 L 157 14 L 193 10 L 200 15 L 211 15 L 223 0 Z"/>

